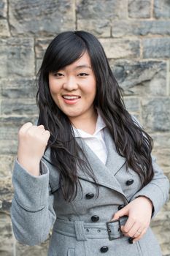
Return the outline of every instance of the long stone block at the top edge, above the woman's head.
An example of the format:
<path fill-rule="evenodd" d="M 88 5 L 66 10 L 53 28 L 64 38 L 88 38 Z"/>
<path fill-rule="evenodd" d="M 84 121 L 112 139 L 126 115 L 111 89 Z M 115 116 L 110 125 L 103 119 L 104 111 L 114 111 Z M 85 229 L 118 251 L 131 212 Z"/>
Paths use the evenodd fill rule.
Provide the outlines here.
<path fill-rule="evenodd" d="M 77 0 L 77 19 L 112 20 L 127 17 L 126 0 Z"/>

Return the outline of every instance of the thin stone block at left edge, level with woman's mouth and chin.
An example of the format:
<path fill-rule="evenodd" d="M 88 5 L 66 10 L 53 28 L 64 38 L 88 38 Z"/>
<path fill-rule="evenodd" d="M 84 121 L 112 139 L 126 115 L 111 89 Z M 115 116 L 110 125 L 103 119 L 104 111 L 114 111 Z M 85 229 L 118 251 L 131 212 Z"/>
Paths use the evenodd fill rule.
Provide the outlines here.
<path fill-rule="evenodd" d="M 33 99 L 2 99 L 2 115 L 36 115 L 37 107 Z"/>

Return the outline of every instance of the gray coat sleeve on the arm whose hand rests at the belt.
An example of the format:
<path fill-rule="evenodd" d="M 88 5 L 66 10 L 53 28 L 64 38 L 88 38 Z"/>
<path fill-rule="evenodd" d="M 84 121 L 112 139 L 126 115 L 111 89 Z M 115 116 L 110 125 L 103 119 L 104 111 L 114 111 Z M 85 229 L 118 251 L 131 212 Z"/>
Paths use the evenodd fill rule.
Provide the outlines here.
<path fill-rule="evenodd" d="M 154 169 L 152 181 L 131 198 L 131 200 L 134 200 L 139 196 L 148 197 L 153 205 L 152 217 L 155 217 L 163 204 L 169 200 L 169 179 L 163 174 L 163 170 L 161 170 L 161 167 L 157 165 L 155 160 L 155 157 L 152 157 Z"/>

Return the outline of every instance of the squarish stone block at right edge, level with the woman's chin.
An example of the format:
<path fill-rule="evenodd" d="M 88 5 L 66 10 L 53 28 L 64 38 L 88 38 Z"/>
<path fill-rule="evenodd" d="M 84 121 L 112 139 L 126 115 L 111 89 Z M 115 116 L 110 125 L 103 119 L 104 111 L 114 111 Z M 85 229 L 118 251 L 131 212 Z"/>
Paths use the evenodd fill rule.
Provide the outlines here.
<path fill-rule="evenodd" d="M 170 131 L 170 99 L 155 97 L 142 99 L 144 127 L 154 132 Z"/>

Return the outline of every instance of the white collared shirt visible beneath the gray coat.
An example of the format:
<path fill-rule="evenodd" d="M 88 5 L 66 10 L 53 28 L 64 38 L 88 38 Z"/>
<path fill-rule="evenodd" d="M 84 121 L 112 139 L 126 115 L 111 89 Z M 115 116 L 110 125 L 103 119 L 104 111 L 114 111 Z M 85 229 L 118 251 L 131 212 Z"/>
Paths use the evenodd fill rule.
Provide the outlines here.
<path fill-rule="evenodd" d="M 96 121 L 96 130 L 93 135 L 90 135 L 88 132 L 83 131 L 82 129 L 76 129 L 73 126 L 74 137 L 82 138 L 85 143 L 88 144 L 90 149 L 96 154 L 96 156 L 101 159 L 104 165 L 107 162 L 107 147 L 104 142 L 104 127 L 106 124 L 98 113 L 98 118 Z"/>

